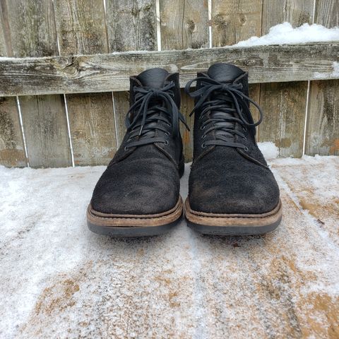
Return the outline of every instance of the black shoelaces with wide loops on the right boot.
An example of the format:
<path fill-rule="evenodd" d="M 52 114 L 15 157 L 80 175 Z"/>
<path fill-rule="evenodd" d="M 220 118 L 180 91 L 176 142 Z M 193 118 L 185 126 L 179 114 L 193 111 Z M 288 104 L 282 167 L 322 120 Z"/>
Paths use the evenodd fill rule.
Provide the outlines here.
<path fill-rule="evenodd" d="M 195 81 L 201 81 L 201 87 L 194 92 L 190 92 L 191 85 Z M 242 129 L 244 131 L 246 131 L 247 127 L 254 128 L 261 123 L 263 119 L 263 112 L 261 107 L 259 107 L 258 104 L 251 100 L 247 95 L 244 95 L 241 90 L 241 83 L 220 83 L 214 79 L 202 76 L 194 78 L 186 84 L 186 94 L 190 97 L 198 98 L 190 116 L 198 109 L 201 109 L 199 119 L 203 119 L 208 112 L 211 112 L 210 117 L 201 124 L 201 129 L 206 130 L 204 131 L 202 138 L 206 138 L 208 133 L 211 131 L 215 131 L 215 138 L 214 140 L 203 142 L 201 145 L 202 148 L 206 148 L 207 145 L 222 145 L 248 150 L 248 148 L 242 143 L 235 143 L 233 141 L 234 136 L 236 135 L 246 139 L 244 133 L 237 131 L 235 126 L 236 124 L 242 125 Z M 213 92 L 215 93 L 215 100 L 208 100 L 208 97 Z M 251 114 L 245 100 L 251 102 L 258 109 L 260 117 L 258 121 L 253 124 L 247 121 L 246 115 L 243 114 L 243 109 L 246 110 L 248 114 Z M 232 104 L 234 104 L 235 108 L 230 107 Z M 232 114 L 232 117 L 230 117 L 229 114 Z M 232 122 L 234 124 L 230 126 L 230 123 Z M 208 125 L 208 129 L 206 129 Z M 230 138 L 230 136 L 232 138 Z"/>

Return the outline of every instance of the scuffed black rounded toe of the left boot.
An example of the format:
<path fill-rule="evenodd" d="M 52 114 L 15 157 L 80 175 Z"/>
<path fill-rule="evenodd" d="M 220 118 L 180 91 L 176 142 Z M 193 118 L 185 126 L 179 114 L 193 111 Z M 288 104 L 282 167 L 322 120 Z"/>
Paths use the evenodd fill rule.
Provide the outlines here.
<path fill-rule="evenodd" d="M 102 174 L 91 204 L 101 213 L 147 215 L 170 210 L 178 198 L 179 174 L 174 166 L 148 164 L 126 169 L 117 164 Z"/>

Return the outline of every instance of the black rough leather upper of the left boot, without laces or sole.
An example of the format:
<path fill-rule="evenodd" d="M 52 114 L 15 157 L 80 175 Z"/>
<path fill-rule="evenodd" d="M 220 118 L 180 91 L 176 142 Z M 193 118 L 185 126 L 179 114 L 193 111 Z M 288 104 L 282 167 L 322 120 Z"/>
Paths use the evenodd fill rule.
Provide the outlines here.
<path fill-rule="evenodd" d="M 179 74 L 169 74 L 164 69 L 150 69 L 130 78 L 131 104 L 134 86 L 160 88 L 169 81 L 176 84 L 174 101 L 179 107 Z M 162 122 L 160 124 L 165 126 Z M 165 135 L 162 131 L 157 133 Z M 92 208 L 102 213 L 134 215 L 157 214 L 174 208 L 179 199 L 182 138 L 180 133 L 177 137 L 173 133 L 165 137 L 168 145 L 154 143 L 125 150 L 129 138 L 127 132 L 95 186 Z"/>

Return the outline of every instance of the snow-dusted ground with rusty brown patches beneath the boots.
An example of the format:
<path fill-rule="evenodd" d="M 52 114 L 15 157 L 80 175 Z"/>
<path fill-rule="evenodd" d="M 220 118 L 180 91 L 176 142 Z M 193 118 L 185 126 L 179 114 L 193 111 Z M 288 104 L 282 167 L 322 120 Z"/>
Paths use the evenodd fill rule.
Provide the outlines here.
<path fill-rule="evenodd" d="M 338 338 L 339 157 L 270 165 L 275 232 L 149 239 L 88 230 L 105 167 L 0 167 L 0 338 Z"/>

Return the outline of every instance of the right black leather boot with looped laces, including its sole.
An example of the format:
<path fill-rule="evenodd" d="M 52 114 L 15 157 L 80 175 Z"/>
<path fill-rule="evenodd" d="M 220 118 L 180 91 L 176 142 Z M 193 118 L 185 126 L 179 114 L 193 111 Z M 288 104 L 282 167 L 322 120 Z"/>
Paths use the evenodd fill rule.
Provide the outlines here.
<path fill-rule="evenodd" d="M 196 91 L 189 93 L 195 81 Z M 262 112 L 248 97 L 247 73 L 214 64 L 187 83 L 186 93 L 195 98 L 194 161 L 185 203 L 189 226 L 220 235 L 274 230 L 282 216 L 279 188 L 254 138 Z M 256 123 L 249 102 L 259 110 Z"/>

